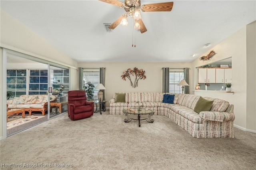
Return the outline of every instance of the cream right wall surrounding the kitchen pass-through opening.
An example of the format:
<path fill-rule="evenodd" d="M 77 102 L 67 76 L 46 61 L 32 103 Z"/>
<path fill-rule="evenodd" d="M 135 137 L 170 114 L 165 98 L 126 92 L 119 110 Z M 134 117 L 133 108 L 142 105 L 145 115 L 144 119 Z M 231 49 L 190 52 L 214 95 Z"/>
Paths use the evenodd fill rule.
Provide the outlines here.
<path fill-rule="evenodd" d="M 255 24 L 255 22 L 254 22 Z M 255 30 L 254 35 L 248 32 L 247 36 L 254 36 L 255 38 Z M 255 40 L 255 39 L 254 39 Z M 192 62 L 193 67 L 193 75 L 194 75 L 194 87 L 197 83 L 197 69 L 196 67 L 206 65 L 213 63 L 215 61 L 225 59 L 228 57 L 232 57 L 232 91 L 234 91 L 234 95 L 226 95 L 225 97 L 222 97 L 222 99 L 229 101 L 231 104 L 234 105 L 234 114 L 236 116 L 236 119 L 234 121 L 234 124 L 236 127 L 256 132 L 255 126 L 250 126 L 250 128 L 247 127 L 247 124 L 249 121 L 247 120 L 248 116 L 248 109 L 251 109 L 252 106 L 248 106 L 248 97 L 247 94 L 249 89 L 247 89 L 247 74 L 248 72 L 253 72 L 255 76 L 255 53 L 254 53 L 254 68 L 247 67 L 246 60 L 248 58 L 246 54 L 246 47 L 249 47 L 246 45 L 246 26 L 242 29 L 240 29 L 238 32 L 233 34 L 232 36 L 228 37 L 226 40 L 220 42 L 218 45 L 212 47 L 209 51 L 206 51 L 203 55 L 207 55 L 211 50 L 214 50 L 217 54 L 212 58 L 211 61 L 199 61 L 199 59 L 196 59 Z M 255 42 L 254 47 L 255 50 Z M 254 80 L 255 83 L 255 80 Z M 255 84 L 254 84 L 255 87 Z M 254 91 L 255 94 L 255 91 Z M 212 94 L 211 97 L 221 98 L 220 95 L 214 95 Z M 249 99 L 250 100 L 250 99 Z M 255 101 L 255 98 L 254 98 Z M 255 106 L 255 103 L 254 103 Z M 251 114 L 252 118 L 254 120 L 250 121 L 250 125 L 256 124 L 255 119 L 255 109 L 253 110 L 254 113 Z"/>

